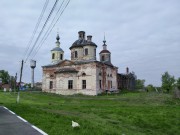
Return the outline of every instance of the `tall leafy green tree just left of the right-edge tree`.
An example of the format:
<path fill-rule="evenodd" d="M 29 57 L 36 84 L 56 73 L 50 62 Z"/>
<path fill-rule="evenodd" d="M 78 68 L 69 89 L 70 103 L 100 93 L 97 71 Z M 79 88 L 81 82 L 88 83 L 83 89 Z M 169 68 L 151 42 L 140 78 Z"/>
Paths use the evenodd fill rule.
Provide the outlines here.
<path fill-rule="evenodd" d="M 162 86 L 161 86 L 162 89 L 166 90 L 169 93 L 169 91 L 172 90 L 174 86 L 174 82 L 175 82 L 174 76 L 171 76 L 168 72 L 165 72 L 162 75 L 161 80 L 162 80 Z"/>

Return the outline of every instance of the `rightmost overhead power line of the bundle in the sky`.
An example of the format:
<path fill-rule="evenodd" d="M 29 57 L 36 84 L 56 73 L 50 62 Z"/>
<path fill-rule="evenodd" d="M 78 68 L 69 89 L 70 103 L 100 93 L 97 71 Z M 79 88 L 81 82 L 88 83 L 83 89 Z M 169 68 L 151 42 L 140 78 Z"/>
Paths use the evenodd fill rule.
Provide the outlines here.
<path fill-rule="evenodd" d="M 68 2 L 66 3 L 64 9 L 61 11 L 59 17 L 57 18 L 56 22 L 54 23 L 54 25 L 51 27 L 51 29 L 49 31 L 46 31 L 45 36 L 43 37 L 43 40 L 41 40 L 41 43 L 39 44 L 39 46 L 37 47 L 37 51 L 35 52 L 34 56 L 37 54 L 37 52 L 39 51 L 39 49 L 41 48 L 41 46 L 43 45 L 43 43 L 46 41 L 46 39 L 48 38 L 49 34 L 51 33 L 52 29 L 54 28 L 54 26 L 56 25 L 56 23 L 59 21 L 61 15 L 63 14 L 64 10 L 67 8 L 68 4 L 70 3 L 70 0 L 68 0 Z"/>

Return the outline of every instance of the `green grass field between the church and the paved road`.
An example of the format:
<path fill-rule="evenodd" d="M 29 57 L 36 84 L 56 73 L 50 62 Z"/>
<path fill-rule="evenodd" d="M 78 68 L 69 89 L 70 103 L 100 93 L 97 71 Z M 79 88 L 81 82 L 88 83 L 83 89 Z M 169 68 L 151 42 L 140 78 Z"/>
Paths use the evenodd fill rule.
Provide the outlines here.
<path fill-rule="evenodd" d="M 0 92 L 8 107 L 50 135 L 180 135 L 180 100 L 171 94 L 120 93 L 60 96 Z M 80 124 L 73 129 L 71 121 Z"/>

